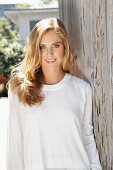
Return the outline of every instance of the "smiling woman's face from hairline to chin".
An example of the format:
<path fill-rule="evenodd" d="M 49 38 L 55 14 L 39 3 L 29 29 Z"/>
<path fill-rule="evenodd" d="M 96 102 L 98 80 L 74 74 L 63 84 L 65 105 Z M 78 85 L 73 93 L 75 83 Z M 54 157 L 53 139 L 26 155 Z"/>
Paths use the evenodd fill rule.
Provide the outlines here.
<path fill-rule="evenodd" d="M 54 30 L 44 33 L 40 42 L 42 71 L 62 70 L 64 51 L 64 44 Z"/>

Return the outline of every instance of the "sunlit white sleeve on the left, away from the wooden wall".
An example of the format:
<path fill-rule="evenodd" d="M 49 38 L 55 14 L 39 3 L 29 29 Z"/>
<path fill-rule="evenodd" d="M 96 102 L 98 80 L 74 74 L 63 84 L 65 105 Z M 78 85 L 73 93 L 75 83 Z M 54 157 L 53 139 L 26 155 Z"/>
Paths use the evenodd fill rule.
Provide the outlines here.
<path fill-rule="evenodd" d="M 7 170 L 23 170 L 23 136 L 18 97 L 8 91 Z"/>

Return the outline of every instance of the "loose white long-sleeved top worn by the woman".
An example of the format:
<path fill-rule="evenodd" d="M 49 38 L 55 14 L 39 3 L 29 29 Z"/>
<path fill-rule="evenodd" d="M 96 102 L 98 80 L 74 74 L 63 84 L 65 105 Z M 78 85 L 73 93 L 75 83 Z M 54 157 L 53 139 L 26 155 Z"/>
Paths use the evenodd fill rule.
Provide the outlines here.
<path fill-rule="evenodd" d="M 66 73 L 42 94 L 43 103 L 30 107 L 9 91 L 8 170 L 101 170 L 89 83 Z"/>

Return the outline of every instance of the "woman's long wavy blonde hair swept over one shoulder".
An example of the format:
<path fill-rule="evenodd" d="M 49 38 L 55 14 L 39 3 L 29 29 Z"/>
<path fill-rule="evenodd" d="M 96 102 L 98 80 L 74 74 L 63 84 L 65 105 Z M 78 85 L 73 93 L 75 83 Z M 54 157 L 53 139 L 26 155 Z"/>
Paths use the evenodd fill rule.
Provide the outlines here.
<path fill-rule="evenodd" d="M 26 54 L 23 61 L 12 71 L 9 80 L 11 91 L 18 95 L 19 101 L 23 104 L 31 106 L 40 104 L 44 100 L 44 96 L 40 94 L 43 87 L 40 41 L 48 30 L 54 30 L 64 43 L 65 56 L 61 64 L 62 69 L 67 73 L 71 73 L 74 69 L 74 57 L 63 22 L 56 18 L 39 21 L 27 38 Z"/>

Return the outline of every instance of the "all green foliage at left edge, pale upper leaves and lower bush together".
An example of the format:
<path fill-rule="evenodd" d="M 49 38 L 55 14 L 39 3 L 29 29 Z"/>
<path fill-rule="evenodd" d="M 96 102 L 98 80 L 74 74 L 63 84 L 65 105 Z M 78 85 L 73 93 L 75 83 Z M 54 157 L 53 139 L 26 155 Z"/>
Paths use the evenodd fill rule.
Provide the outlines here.
<path fill-rule="evenodd" d="M 18 42 L 17 29 L 12 30 L 6 19 L 0 19 L 0 75 L 9 77 L 11 68 L 24 56 L 24 46 Z"/>

